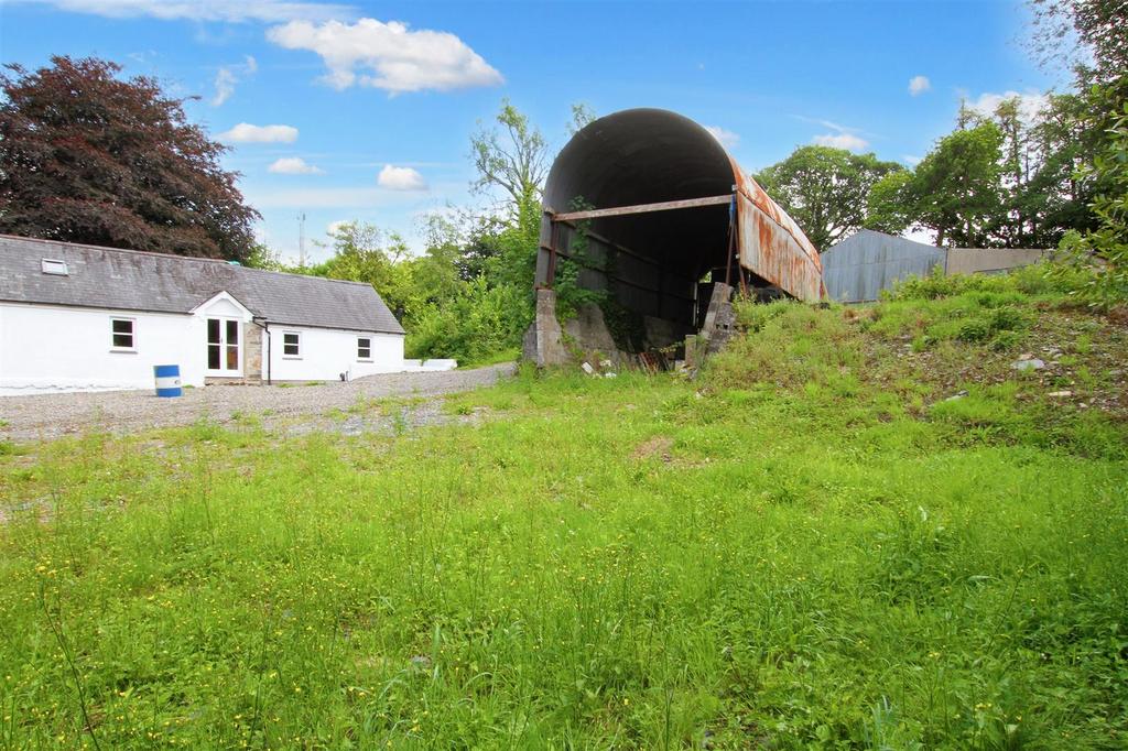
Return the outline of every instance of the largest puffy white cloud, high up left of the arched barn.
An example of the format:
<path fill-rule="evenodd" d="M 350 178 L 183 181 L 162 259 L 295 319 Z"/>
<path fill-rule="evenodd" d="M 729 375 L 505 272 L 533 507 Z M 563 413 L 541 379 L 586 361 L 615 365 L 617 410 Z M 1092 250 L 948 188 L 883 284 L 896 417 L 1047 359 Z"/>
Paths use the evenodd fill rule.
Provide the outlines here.
<path fill-rule="evenodd" d="M 296 20 L 275 26 L 266 38 L 287 50 L 309 50 L 325 61 L 325 81 L 391 94 L 499 86 L 504 79 L 460 38 L 447 32 L 411 30 L 400 21 L 361 18 L 355 24 Z M 358 72 L 359 70 L 359 72 Z"/>

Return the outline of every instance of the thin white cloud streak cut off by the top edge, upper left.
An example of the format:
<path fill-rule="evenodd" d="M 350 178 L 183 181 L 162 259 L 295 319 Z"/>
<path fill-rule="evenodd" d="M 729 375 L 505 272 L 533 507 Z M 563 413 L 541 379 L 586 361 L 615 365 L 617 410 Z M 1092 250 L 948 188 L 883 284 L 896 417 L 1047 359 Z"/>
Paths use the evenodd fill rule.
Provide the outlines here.
<path fill-rule="evenodd" d="M 299 0 L 14 0 L 108 18 L 149 17 L 160 20 L 265 21 L 351 18 L 350 6 Z"/>

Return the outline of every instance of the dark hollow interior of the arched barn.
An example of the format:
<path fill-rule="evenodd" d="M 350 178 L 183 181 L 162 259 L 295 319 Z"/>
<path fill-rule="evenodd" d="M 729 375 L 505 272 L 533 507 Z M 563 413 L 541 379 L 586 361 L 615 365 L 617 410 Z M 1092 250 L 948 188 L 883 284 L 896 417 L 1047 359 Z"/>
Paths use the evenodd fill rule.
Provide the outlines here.
<path fill-rule="evenodd" d="M 651 321 L 658 327 L 663 321 L 675 336 L 694 330 L 708 301 L 700 280 L 725 272 L 733 169 L 708 131 L 672 112 L 628 109 L 591 123 L 548 175 L 538 284 L 552 284 L 553 251 L 571 257 L 582 222 L 589 265 L 607 272 L 583 268 L 583 286 L 610 289 L 623 308 L 658 319 Z M 711 205 L 651 206 L 713 197 Z M 578 210 L 613 207 L 638 211 L 570 219 Z"/>

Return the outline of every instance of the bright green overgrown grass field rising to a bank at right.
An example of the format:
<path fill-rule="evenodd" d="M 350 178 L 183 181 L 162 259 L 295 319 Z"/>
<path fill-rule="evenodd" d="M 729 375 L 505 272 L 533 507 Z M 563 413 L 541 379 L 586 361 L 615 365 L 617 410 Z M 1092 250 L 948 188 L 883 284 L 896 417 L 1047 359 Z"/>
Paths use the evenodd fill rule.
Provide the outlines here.
<path fill-rule="evenodd" d="M 741 312 L 472 424 L 7 444 L 0 748 L 1125 748 L 1122 323 Z"/>

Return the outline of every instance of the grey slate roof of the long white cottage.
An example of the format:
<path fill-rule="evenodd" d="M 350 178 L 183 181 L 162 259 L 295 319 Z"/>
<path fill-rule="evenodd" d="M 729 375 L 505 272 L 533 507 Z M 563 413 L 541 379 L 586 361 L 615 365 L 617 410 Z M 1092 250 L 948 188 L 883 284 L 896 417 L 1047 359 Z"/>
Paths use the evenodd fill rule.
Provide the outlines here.
<path fill-rule="evenodd" d="M 44 258 L 69 275 L 44 274 Z M 0 301 L 186 313 L 228 292 L 271 324 L 403 334 L 370 284 L 0 235 Z"/>

